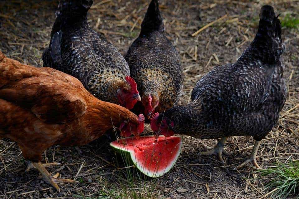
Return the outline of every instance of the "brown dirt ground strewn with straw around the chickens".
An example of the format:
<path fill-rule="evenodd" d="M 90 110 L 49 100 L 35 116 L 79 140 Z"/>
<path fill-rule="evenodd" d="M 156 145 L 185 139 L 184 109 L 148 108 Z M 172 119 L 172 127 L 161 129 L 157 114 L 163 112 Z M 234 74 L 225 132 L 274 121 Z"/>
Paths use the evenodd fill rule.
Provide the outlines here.
<path fill-rule="evenodd" d="M 38 3 L 37 3 L 38 2 Z M 106 36 L 125 55 L 131 42 L 138 36 L 140 24 L 149 0 L 95 0 L 89 11 L 91 27 Z M 41 55 L 49 45 L 50 31 L 55 21 L 57 1 L 1 1 L 0 50 L 7 57 L 41 67 Z M 213 67 L 234 62 L 253 40 L 259 21 L 259 9 L 271 4 L 276 13 L 298 15 L 299 1 L 160 1 L 167 37 L 173 42 L 182 60 L 186 75 L 180 103 L 190 101 L 195 83 Z M 206 24 L 221 21 L 192 36 Z M 286 43 L 283 54 L 289 94 L 281 111 L 279 125 L 263 140 L 258 151 L 261 167 L 276 161 L 299 160 L 299 29 L 284 27 Z M 0 105 L 1 106 L 1 105 Z M 146 126 L 149 132 L 149 126 Z M 216 140 L 200 140 L 183 136 L 183 150 L 173 169 L 148 183 L 155 184 L 155 198 L 269 198 L 263 183 L 267 180 L 252 167 L 234 171 L 235 163 L 247 156 L 254 140 L 231 137 L 226 147 L 230 156 L 221 164 L 215 156 L 199 156 L 205 145 Z M 121 170 L 116 170 L 115 156 L 105 136 L 81 147 L 51 147 L 45 151 L 44 161 L 60 162 L 48 168 L 62 177 L 74 178 L 78 184 L 60 184 L 61 192 L 37 179 L 37 171 L 24 173 L 26 161 L 17 144 L 0 140 L 0 198 L 117 198 L 109 195 L 110 185 Z M 56 169 L 56 171 L 55 171 Z M 117 193 L 116 193 L 117 195 Z"/>

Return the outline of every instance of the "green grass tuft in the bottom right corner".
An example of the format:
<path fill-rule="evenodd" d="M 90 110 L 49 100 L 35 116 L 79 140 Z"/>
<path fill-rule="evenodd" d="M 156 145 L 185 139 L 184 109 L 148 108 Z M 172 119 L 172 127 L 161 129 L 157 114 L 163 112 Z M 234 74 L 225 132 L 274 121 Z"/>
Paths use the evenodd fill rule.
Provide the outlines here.
<path fill-rule="evenodd" d="M 270 197 L 273 199 L 285 199 L 289 195 L 299 197 L 299 162 L 277 163 L 276 166 L 259 170 L 262 176 L 270 179 L 265 185 L 265 190 L 272 191 Z"/>

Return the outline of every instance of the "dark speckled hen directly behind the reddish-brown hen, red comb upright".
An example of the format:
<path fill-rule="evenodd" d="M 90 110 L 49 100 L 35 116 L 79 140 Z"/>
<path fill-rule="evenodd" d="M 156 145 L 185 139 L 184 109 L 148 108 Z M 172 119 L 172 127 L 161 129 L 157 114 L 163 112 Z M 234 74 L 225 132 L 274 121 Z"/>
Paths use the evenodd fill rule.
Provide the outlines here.
<path fill-rule="evenodd" d="M 141 100 L 126 60 L 87 22 L 93 0 L 60 0 L 44 66 L 78 78 L 100 100 L 132 109 Z"/>

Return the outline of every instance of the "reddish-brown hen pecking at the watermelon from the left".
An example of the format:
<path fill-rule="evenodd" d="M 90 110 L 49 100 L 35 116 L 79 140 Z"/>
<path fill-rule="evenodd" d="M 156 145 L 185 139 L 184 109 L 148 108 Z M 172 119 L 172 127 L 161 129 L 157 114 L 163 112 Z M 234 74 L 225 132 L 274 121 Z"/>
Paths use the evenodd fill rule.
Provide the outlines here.
<path fill-rule="evenodd" d="M 86 145 L 107 130 L 119 127 L 121 135 L 139 137 L 144 116 L 104 102 L 82 83 L 52 68 L 35 68 L 6 58 L 0 52 L 0 139 L 14 140 L 22 155 L 46 182 L 59 191 L 58 182 L 74 180 L 50 176 L 41 154 L 52 145 Z M 26 169 L 27 170 L 27 169 Z"/>

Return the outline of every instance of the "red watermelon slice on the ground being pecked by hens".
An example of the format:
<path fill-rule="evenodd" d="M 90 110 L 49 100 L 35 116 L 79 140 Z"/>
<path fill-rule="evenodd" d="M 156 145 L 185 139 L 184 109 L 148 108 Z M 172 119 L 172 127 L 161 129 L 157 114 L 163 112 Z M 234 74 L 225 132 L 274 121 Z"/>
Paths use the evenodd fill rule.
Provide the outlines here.
<path fill-rule="evenodd" d="M 127 137 L 110 143 L 116 151 L 131 158 L 136 168 L 145 175 L 157 178 L 167 173 L 177 161 L 182 148 L 182 138 L 178 136 Z"/>

